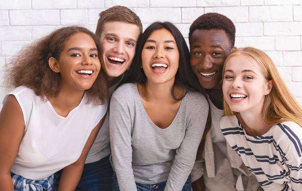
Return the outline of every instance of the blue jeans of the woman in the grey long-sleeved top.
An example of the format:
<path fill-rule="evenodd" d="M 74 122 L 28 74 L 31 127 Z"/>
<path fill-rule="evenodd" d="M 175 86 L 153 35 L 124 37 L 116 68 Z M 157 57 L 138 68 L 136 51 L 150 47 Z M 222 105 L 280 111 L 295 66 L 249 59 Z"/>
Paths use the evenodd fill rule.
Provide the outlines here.
<path fill-rule="evenodd" d="M 135 182 L 136 183 L 136 182 Z M 157 183 L 157 184 L 141 184 L 136 183 L 137 191 L 163 191 L 165 189 L 167 181 Z M 112 191 L 120 191 L 118 186 L 118 181 L 115 172 L 112 176 Z M 189 175 L 182 191 L 191 191 L 191 176 Z"/>

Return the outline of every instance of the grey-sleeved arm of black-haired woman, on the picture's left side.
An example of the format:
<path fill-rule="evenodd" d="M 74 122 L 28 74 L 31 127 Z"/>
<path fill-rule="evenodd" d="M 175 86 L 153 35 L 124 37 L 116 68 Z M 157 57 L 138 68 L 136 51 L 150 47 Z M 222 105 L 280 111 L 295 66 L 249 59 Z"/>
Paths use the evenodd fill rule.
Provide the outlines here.
<path fill-rule="evenodd" d="M 119 188 L 121 191 L 136 190 L 132 170 L 130 113 L 114 96 L 110 102 L 109 129 L 111 156 Z"/>

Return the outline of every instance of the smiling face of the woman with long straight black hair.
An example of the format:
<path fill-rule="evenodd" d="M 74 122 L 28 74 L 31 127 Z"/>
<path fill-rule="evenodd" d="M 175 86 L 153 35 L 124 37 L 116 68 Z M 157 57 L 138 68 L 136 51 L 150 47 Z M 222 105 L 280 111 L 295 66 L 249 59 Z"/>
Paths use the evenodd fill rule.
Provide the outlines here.
<path fill-rule="evenodd" d="M 179 64 L 179 52 L 174 37 L 167 29 L 155 30 L 141 52 L 147 82 L 174 83 Z"/>

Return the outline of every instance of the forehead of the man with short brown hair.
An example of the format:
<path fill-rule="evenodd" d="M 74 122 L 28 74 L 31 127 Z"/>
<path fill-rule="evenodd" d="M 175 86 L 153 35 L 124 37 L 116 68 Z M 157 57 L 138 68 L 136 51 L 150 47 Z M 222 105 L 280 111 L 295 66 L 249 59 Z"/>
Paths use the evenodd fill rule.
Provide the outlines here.
<path fill-rule="evenodd" d="M 106 34 L 115 34 L 119 38 L 130 38 L 137 40 L 139 36 L 139 28 L 137 25 L 130 23 L 109 21 L 104 24 L 101 36 Z"/>

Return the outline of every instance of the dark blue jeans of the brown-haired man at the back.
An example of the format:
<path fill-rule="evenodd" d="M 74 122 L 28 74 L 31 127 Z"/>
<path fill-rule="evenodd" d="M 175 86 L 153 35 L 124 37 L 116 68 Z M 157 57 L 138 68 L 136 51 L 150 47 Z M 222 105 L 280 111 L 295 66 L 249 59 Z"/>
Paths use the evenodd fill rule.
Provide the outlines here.
<path fill-rule="evenodd" d="M 76 191 L 110 191 L 112 180 L 112 166 L 109 156 L 99 161 L 84 165 L 83 173 Z M 56 184 L 58 184 L 60 171 L 56 173 Z"/>

